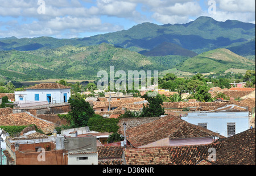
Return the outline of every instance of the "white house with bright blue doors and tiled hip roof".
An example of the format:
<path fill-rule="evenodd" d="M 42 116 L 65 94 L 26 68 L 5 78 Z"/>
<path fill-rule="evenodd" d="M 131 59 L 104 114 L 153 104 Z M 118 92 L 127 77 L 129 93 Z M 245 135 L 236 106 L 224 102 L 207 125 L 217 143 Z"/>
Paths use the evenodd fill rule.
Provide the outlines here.
<path fill-rule="evenodd" d="M 26 88 L 26 91 L 15 91 L 15 102 L 48 102 L 65 103 L 71 97 L 71 87 L 60 83 L 40 83 Z"/>

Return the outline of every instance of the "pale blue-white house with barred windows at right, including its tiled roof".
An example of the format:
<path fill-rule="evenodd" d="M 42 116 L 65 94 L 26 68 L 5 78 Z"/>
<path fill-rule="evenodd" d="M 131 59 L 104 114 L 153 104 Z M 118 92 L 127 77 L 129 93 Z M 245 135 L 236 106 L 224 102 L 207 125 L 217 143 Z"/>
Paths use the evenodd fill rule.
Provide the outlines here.
<path fill-rule="evenodd" d="M 222 136 L 230 137 L 250 128 L 249 111 L 246 107 L 230 104 L 213 111 L 188 112 L 181 119 L 200 125 Z"/>

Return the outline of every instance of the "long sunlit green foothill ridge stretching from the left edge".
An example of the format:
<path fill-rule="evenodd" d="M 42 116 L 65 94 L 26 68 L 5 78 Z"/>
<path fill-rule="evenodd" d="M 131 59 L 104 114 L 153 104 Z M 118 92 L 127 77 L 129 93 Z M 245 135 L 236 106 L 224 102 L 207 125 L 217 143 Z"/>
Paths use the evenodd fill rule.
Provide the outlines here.
<path fill-rule="evenodd" d="M 187 57 L 146 57 L 125 48 L 102 43 L 88 47 L 64 46 L 35 51 L 0 51 L 0 76 L 28 81 L 48 78 L 96 79 L 100 70 L 165 70 Z"/>

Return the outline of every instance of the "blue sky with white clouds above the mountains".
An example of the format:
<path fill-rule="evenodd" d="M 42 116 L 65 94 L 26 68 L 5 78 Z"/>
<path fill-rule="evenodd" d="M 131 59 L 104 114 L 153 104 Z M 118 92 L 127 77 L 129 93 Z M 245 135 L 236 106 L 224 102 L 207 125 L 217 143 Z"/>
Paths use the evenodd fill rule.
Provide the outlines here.
<path fill-rule="evenodd" d="M 0 0 L 0 38 L 89 37 L 199 16 L 255 24 L 255 0 Z"/>

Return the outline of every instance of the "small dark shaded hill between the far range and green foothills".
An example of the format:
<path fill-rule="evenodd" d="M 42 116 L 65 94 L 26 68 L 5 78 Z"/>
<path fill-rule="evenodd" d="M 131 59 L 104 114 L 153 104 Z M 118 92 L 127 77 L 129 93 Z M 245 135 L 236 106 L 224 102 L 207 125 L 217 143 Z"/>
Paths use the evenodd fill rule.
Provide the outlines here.
<path fill-rule="evenodd" d="M 157 47 L 151 49 L 150 51 L 141 51 L 139 52 L 144 56 L 168 56 L 168 55 L 176 55 L 176 56 L 187 56 L 193 57 L 196 56 L 197 53 L 189 51 L 188 49 L 184 49 L 180 47 L 180 45 L 174 43 L 164 42 Z"/>

